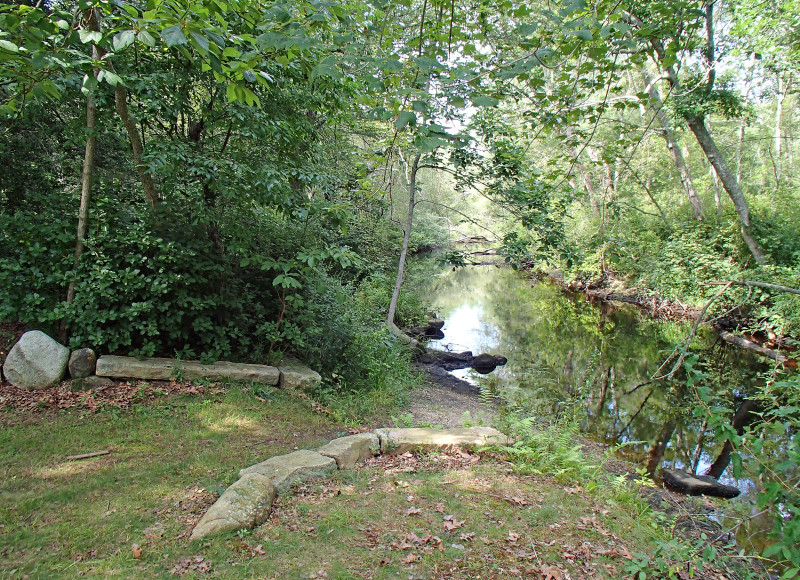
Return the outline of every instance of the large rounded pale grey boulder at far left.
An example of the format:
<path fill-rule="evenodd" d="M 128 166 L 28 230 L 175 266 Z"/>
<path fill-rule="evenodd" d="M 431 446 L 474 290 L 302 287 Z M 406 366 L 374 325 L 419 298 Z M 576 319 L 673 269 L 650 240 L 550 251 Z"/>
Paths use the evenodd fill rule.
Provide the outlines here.
<path fill-rule="evenodd" d="M 20 389 L 44 389 L 59 382 L 67 370 L 69 349 L 44 332 L 26 332 L 3 364 L 6 380 Z"/>

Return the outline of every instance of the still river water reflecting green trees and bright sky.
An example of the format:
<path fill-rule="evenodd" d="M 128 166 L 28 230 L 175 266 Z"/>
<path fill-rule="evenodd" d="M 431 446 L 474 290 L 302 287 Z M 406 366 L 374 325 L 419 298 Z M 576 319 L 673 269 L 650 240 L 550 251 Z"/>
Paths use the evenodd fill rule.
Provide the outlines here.
<path fill-rule="evenodd" d="M 543 420 L 578 417 L 589 437 L 625 444 L 619 453 L 642 466 L 651 461 L 702 474 L 719 453 L 722 442 L 713 433 L 700 435 L 704 419 L 691 412 L 696 399 L 685 373 L 644 384 L 688 335 L 688 323 L 653 320 L 627 305 L 591 303 L 507 267 L 437 268 L 424 278 L 423 298 L 445 320 L 445 338 L 429 346 L 508 358 L 489 375 L 466 369 L 454 371 L 456 376 Z M 710 331 L 701 332 L 692 349 L 733 408 L 767 368 L 755 356 L 720 344 Z M 653 453 L 659 440 L 666 443 L 663 457 Z M 737 502 L 752 502 L 754 482 L 734 480 L 729 472 L 720 481 L 742 490 Z"/>

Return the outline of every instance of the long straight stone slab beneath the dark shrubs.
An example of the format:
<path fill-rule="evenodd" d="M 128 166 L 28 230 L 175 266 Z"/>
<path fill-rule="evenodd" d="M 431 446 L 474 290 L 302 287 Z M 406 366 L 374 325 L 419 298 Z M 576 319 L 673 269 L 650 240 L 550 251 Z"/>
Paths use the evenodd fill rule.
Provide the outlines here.
<path fill-rule="evenodd" d="M 95 374 L 100 377 L 152 379 L 168 381 L 178 376 L 184 379 L 209 379 L 212 381 L 249 381 L 277 385 L 280 371 L 266 365 L 251 365 L 220 361 L 204 365 L 197 361 L 172 358 L 139 360 L 130 356 L 101 356 L 97 359 Z"/>

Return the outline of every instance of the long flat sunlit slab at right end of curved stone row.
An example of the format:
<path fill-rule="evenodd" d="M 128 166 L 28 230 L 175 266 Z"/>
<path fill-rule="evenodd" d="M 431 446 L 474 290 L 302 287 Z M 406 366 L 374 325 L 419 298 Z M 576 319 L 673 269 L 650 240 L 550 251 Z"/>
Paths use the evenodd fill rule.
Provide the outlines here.
<path fill-rule="evenodd" d="M 381 453 L 446 451 L 466 445 L 508 445 L 509 439 L 492 427 L 460 429 L 377 429 Z"/>

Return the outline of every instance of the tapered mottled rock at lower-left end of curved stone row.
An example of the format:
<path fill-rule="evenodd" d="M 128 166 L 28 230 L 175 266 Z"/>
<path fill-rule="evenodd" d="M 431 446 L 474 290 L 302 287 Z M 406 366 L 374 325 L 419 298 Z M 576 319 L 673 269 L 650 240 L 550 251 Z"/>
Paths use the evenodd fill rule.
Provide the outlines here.
<path fill-rule="evenodd" d="M 276 490 L 266 475 L 251 473 L 225 490 L 192 530 L 191 541 L 252 529 L 269 517 Z"/>

